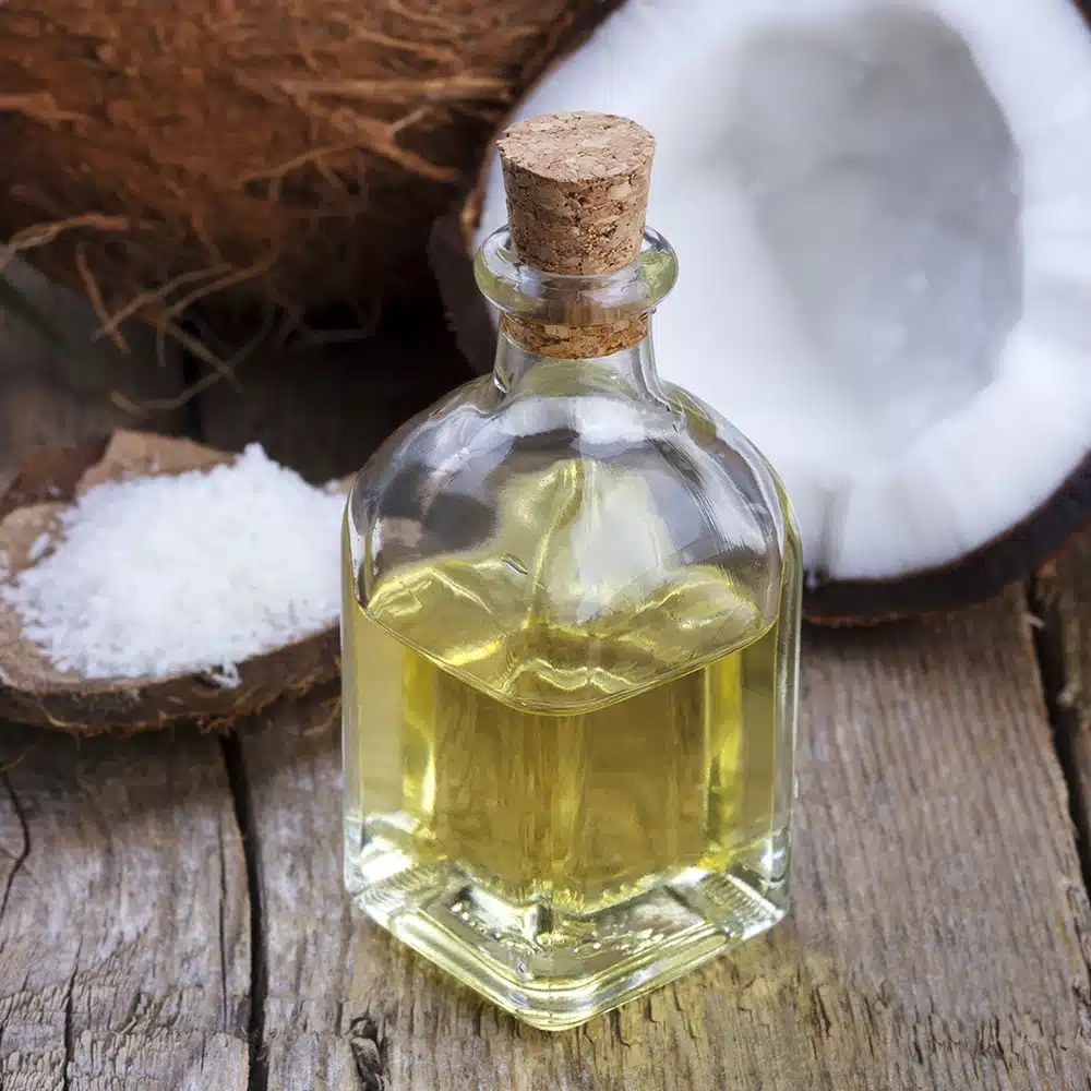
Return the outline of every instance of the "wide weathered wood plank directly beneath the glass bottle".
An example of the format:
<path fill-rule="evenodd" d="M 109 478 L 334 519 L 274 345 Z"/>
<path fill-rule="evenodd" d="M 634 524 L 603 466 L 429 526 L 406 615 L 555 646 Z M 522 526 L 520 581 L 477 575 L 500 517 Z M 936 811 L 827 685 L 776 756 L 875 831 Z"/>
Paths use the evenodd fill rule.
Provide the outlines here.
<path fill-rule="evenodd" d="M 811 633 L 804 678 L 790 923 L 555 1036 L 346 908 L 331 695 L 256 720 L 269 1087 L 1086 1088 L 1091 916 L 1022 598 Z"/>

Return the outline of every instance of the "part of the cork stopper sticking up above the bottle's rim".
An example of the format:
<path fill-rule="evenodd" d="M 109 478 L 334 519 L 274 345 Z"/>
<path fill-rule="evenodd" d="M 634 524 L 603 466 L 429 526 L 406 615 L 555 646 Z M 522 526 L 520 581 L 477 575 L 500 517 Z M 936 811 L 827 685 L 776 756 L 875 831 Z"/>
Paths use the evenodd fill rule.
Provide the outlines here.
<path fill-rule="evenodd" d="M 640 251 L 656 142 L 609 113 L 544 113 L 499 140 L 512 245 L 544 273 L 610 273 Z"/>

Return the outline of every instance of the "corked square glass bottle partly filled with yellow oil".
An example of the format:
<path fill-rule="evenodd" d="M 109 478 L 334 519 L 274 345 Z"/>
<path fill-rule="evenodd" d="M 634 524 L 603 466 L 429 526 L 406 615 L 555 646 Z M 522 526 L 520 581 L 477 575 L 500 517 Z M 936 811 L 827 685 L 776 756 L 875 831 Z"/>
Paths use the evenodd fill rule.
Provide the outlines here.
<path fill-rule="evenodd" d="M 391 436 L 345 520 L 348 890 L 554 1030 L 788 908 L 799 537 L 764 457 L 657 375 L 652 146 L 602 115 L 508 131 L 494 371 Z"/>

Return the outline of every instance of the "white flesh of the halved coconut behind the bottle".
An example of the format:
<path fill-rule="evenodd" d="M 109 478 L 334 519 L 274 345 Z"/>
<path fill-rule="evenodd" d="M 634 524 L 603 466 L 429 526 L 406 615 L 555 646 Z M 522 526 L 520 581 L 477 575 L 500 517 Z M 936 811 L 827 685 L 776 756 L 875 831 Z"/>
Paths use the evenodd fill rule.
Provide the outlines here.
<path fill-rule="evenodd" d="M 1068 0 L 631 0 L 517 111 L 632 117 L 679 253 L 660 372 L 832 579 L 927 571 L 1091 445 L 1091 35 Z M 479 238 L 505 219 L 494 161 Z"/>

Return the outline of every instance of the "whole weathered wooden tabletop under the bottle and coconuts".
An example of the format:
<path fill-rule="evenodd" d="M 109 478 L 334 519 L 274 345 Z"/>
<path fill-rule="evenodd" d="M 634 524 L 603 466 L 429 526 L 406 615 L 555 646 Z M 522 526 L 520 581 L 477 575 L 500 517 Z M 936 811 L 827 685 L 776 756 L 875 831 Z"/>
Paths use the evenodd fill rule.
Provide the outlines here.
<path fill-rule="evenodd" d="M 340 398 L 272 372 L 244 408 L 209 395 L 204 437 L 348 469 L 385 424 L 372 409 L 370 437 L 352 431 L 351 398 L 377 386 L 335 370 Z M 224 740 L 7 727 L 0 1084 L 1082 1091 L 1091 913 L 1069 791 L 1091 770 L 1089 559 L 1091 538 L 1029 600 L 810 632 L 790 920 L 560 1035 L 346 904 L 335 687 Z"/>

